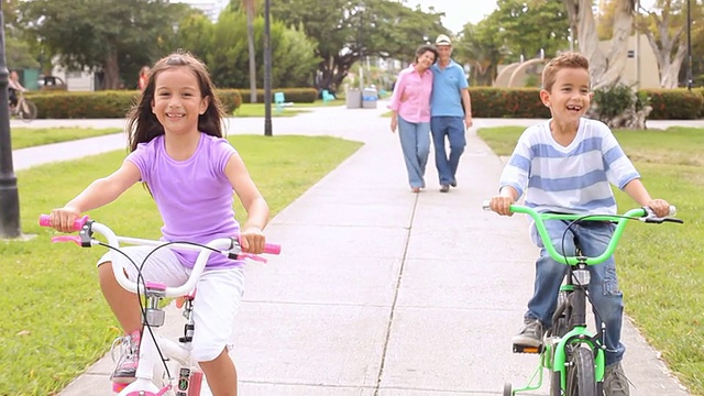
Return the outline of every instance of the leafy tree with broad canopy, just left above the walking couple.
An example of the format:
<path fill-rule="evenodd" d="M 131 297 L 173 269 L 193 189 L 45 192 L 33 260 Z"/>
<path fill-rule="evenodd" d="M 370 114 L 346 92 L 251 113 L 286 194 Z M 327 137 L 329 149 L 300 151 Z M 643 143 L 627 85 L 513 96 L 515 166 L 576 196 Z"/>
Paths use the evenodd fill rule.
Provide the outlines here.
<path fill-rule="evenodd" d="M 272 15 L 286 25 L 302 25 L 306 35 L 318 42 L 316 86 L 331 91 L 366 56 L 413 59 L 417 45 L 449 33 L 441 14 L 387 0 L 327 0 L 326 7 L 319 0 L 275 1 Z"/>

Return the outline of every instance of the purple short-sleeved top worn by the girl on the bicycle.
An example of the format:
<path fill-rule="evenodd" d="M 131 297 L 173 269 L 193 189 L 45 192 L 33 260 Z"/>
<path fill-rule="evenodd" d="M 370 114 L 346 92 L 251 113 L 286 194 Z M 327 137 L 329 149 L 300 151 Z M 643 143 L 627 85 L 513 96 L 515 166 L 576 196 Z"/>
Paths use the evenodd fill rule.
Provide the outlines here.
<path fill-rule="evenodd" d="M 128 155 L 140 169 L 162 215 L 163 239 L 168 242 L 207 243 L 217 238 L 233 237 L 240 231 L 234 219 L 233 189 L 224 174 L 226 165 L 237 151 L 221 138 L 200 133 L 194 155 L 175 161 L 166 153 L 164 135 L 140 143 Z M 198 252 L 176 251 L 186 267 L 193 267 Z M 219 254 L 211 254 L 208 267 L 242 266 Z"/>

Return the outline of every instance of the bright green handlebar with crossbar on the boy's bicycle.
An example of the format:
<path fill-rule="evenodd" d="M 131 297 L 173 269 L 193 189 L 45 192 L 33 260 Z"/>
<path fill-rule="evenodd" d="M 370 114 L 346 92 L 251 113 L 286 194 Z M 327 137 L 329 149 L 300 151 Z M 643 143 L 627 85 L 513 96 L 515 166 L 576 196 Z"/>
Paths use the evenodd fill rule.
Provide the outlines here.
<path fill-rule="evenodd" d="M 518 206 L 518 205 L 512 205 L 510 211 L 514 213 L 528 215 L 535 220 L 536 229 L 538 230 L 538 233 L 540 234 L 540 238 L 543 241 L 546 251 L 550 254 L 550 256 L 554 261 L 557 261 L 558 263 L 568 264 L 568 265 L 574 265 L 579 262 L 579 257 L 575 257 L 575 256 L 565 257 L 560 253 L 558 253 L 558 251 L 554 249 L 554 245 L 552 244 L 552 241 L 550 240 L 550 237 L 548 235 L 548 230 L 546 229 L 544 221 L 546 220 L 576 220 L 576 219 L 585 218 L 587 216 L 542 213 L 542 212 L 537 212 L 531 208 Z M 631 209 L 623 216 L 608 216 L 608 215 L 588 216 L 588 218 L 585 219 L 587 221 L 616 222 L 616 229 L 614 230 L 614 235 L 612 237 L 612 240 L 608 242 L 608 246 L 606 246 L 606 250 L 604 251 L 604 253 L 602 253 L 596 257 L 586 257 L 584 262 L 587 265 L 595 265 L 595 264 L 601 264 L 605 262 L 608 257 L 610 257 L 614 254 L 614 251 L 616 250 L 616 245 L 618 244 L 618 240 L 620 239 L 620 235 L 624 233 L 624 229 L 626 228 L 626 221 L 628 220 L 627 218 L 638 218 L 642 216 L 646 216 L 646 210 L 642 208 Z"/>

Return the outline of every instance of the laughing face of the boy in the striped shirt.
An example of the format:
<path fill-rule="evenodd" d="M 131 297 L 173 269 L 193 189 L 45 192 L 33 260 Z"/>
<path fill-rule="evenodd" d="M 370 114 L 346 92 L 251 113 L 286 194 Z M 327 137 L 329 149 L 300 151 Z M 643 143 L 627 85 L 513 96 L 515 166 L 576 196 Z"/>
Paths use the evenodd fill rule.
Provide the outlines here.
<path fill-rule="evenodd" d="M 579 122 L 586 113 L 593 96 L 590 90 L 590 73 L 573 67 L 558 70 L 552 88 L 540 91 L 540 99 L 550 108 L 552 118 L 561 122 Z"/>

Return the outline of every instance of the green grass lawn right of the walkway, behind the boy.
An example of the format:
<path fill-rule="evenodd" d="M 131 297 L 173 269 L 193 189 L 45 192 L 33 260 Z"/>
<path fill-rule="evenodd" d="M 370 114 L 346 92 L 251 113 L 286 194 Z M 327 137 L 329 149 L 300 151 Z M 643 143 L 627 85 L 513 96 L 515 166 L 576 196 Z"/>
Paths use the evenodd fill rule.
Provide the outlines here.
<path fill-rule="evenodd" d="M 482 129 L 510 155 L 524 128 Z M 704 395 L 704 129 L 616 131 L 650 195 L 678 207 L 678 224 L 628 224 L 616 253 L 626 312 L 692 395 Z M 616 193 L 622 211 L 636 204 Z M 628 358 L 626 352 L 625 359 Z"/>

